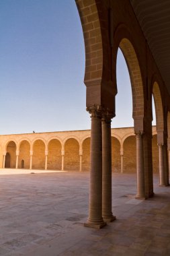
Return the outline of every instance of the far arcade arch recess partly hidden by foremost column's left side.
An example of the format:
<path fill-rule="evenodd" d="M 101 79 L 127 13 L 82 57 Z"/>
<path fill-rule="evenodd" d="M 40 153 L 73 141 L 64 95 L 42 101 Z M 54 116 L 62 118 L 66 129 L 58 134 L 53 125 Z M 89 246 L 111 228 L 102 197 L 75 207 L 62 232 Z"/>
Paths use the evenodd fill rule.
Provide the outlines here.
<path fill-rule="evenodd" d="M 83 141 L 82 170 L 90 170 L 90 138 Z"/>

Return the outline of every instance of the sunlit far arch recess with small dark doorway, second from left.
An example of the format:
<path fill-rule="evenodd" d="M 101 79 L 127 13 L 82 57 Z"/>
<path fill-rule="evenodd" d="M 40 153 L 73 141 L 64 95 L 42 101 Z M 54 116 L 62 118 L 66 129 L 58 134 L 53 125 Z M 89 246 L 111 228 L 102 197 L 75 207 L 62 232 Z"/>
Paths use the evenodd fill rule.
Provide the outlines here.
<path fill-rule="evenodd" d="M 22 164 L 22 161 L 24 161 L 24 164 Z M 30 168 L 30 143 L 27 140 L 20 143 L 18 168 Z"/>

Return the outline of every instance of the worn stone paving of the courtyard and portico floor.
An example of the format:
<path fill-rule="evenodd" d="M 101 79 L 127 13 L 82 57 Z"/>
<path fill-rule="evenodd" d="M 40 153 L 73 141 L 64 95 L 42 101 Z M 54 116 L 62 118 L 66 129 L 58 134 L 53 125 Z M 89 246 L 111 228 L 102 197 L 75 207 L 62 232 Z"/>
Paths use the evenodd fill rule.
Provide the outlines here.
<path fill-rule="evenodd" d="M 89 172 L 0 170 L 0 255 L 170 255 L 170 188 L 158 183 L 140 201 L 136 175 L 113 174 L 117 219 L 95 230 L 83 226 Z"/>

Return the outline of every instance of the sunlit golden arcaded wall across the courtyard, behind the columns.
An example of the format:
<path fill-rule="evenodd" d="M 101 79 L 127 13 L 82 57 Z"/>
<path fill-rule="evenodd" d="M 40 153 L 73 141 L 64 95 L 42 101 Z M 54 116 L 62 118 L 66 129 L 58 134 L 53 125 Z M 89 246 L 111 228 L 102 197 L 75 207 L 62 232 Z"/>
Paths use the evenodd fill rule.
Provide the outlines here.
<path fill-rule="evenodd" d="M 1 168 L 89 171 L 90 137 L 90 130 L 1 135 Z M 136 172 L 133 127 L 112 129 L 112 171 Z M 156 127 L 153 171 L 159 171 Z"/>

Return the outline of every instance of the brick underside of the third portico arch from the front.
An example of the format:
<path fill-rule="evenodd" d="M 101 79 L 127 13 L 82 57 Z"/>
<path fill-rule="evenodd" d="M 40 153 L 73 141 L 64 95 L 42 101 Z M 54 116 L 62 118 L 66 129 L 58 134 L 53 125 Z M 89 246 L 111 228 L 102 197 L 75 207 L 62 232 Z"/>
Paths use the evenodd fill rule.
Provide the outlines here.
<path fill-rule="evenodd" d="M 157 82 L 153 83 L 153 98 L 155 102 L 157 131 L 163 131 L 164 129 L 163 102 L 161 97 L 161 91 L 159 89 L 159 84 Z"/>

